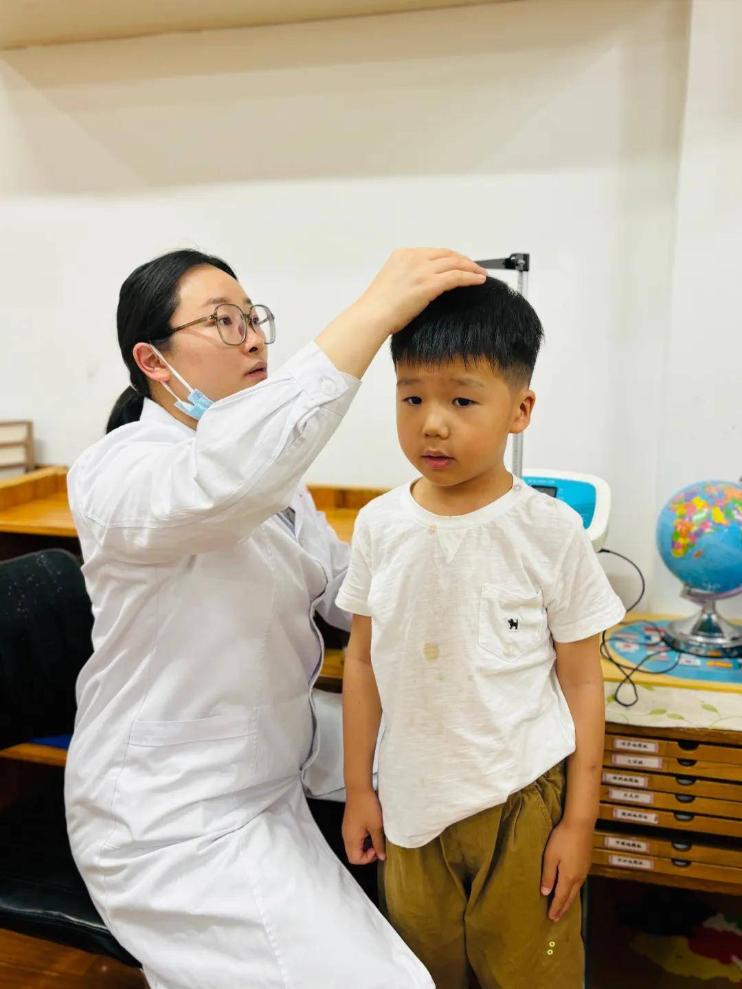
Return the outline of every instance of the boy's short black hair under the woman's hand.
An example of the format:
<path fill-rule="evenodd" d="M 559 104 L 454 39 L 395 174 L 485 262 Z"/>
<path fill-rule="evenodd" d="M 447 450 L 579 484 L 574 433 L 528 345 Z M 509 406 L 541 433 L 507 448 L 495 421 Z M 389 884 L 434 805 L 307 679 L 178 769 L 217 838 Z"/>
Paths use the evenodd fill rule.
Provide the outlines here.
<path fill-rule="evenodd" d="M 484 359 L 514 387 L 530 384 L 543 328 L 534 308 L 499 278 L 452 289 L 391 338 L 399 364 L 438 367 Z"/>

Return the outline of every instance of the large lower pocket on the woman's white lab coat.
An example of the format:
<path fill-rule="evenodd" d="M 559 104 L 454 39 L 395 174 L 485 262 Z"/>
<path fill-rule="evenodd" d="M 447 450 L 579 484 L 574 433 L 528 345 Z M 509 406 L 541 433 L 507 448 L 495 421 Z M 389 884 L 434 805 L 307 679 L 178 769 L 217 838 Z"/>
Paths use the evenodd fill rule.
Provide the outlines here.
<path fill-rule="evenodd" d="M 114 795 L 109 845 L 152 846 L 244 823 L 238 794 L 255 779 L 253 712 L 193 721 L 135 721 Z"/>

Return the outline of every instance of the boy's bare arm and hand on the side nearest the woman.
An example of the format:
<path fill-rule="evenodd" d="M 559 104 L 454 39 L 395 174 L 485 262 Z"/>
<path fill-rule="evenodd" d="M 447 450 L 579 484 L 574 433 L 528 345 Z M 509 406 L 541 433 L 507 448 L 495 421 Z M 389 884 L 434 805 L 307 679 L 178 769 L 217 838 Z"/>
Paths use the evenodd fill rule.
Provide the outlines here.
<path fill-rule="evenodd" d="M 371 618 L 354 615 L 343 673 L 343 748 L 346 806 L 343 840 L 348 859 L 384 859 L 381 806 L 373 789 L 373 753 L 381 701 L 371 669 Z"/>

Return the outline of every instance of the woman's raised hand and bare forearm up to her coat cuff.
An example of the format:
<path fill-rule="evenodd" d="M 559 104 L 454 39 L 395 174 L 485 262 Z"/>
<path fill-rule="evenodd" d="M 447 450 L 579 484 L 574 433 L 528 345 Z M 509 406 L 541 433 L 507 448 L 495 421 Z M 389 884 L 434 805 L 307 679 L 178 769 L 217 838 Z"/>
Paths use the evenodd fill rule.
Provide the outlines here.
<path fill-rule="evenodd" d="M 453 250 L 395 250 L 358 302 L 322 330 L 317 346 L 338 371 L 361 378 L 390 333 L 444 292 L 481 285 L 486 277 L 484 268 Z"/>

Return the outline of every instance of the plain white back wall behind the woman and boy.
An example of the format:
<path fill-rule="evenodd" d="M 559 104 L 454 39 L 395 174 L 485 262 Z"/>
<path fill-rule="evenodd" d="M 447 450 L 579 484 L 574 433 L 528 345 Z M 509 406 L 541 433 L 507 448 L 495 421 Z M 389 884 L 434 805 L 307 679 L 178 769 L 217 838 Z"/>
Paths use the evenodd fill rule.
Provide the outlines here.
<path fill-rule="evenodd" d="M 173 246 L 223 254 L 272 306 L 274 366 L 394 246 L 529 250 L 547 345 L 527 464 L 606 477 L 609 545 L 651 571 L 670 475 L 739 468 L 663 453 L 691 14 L 527 0 L 6 52 L 0 417 L 35 420 L 44 462 L 92 442 L 125 384 L 118 288 Z M 309 480 L 409 474 L 383 354 Z"/>

